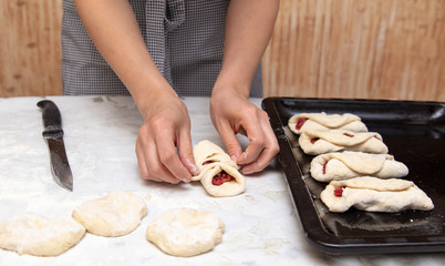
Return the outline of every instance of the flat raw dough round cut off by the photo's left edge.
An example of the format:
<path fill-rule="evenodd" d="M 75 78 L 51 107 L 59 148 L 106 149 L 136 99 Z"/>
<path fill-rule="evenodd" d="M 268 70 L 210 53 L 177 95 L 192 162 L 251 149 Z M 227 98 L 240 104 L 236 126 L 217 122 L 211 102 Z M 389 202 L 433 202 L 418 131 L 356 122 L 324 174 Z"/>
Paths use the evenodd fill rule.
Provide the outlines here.
<path fill-rule="evenodd" d="M 71 218 L 23 214 L 0 225 L 0 247 L 33 256 L 58 256 L 77 244 L 85 228 Z"/>

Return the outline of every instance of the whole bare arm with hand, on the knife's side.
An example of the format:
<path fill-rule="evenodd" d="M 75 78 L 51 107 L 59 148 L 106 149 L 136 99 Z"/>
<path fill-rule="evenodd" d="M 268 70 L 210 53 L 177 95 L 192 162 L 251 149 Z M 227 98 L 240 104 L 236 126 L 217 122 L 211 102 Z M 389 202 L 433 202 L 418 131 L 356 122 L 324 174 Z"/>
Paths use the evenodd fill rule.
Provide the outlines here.
<path fill-rule="evenodd" d="M 156 68 L 128 1 L 74 2 L 94 44 L 144 116 L 136 142 L 142 176 L 169 183 L 190 181 L 198 167 L 187 108 Z"/>

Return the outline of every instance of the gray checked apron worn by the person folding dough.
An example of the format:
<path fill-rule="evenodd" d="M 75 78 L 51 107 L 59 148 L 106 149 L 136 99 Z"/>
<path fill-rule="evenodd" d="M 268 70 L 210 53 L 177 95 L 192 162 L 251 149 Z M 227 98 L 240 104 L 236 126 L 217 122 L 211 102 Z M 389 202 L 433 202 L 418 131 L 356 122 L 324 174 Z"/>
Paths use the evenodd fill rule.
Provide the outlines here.
<path fill-rule="evenodd" d="M 228 0 L 130 0 L 145 44 L 180 96 L 209 96 L 222 62 Z M 86 33 L 72 0 L 63 0 L 65 95 L 130 95 Z M 250 96 L 262 96 L 261 65 Z"/>

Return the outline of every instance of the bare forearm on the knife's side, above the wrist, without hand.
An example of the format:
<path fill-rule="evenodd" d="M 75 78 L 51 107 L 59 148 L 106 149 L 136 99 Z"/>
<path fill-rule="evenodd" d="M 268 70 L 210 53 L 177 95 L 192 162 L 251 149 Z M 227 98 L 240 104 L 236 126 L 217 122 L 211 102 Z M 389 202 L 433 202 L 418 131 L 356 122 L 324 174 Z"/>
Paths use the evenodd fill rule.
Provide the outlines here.
<path fill-rule="evenodd" d="M 174 93 L 151 57 L 127 0 L 74 2 L 90 38 L 143 114 L 158 93 Z"/>

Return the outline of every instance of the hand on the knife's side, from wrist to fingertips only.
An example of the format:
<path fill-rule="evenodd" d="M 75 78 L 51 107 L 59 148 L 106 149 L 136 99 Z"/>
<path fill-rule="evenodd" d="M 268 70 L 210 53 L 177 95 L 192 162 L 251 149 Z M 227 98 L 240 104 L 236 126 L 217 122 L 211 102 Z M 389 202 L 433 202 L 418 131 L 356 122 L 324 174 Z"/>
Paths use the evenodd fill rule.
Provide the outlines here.
<path fill-rule="evenodd" d="M 143 112 L 136 141 L 141 175 L 145 180 L 178 183 L 198 175 L 193 156 L 190 120 L 178 96 L 164 93 Z M 177 150 L 177 152 L 176 152 Z"/>

